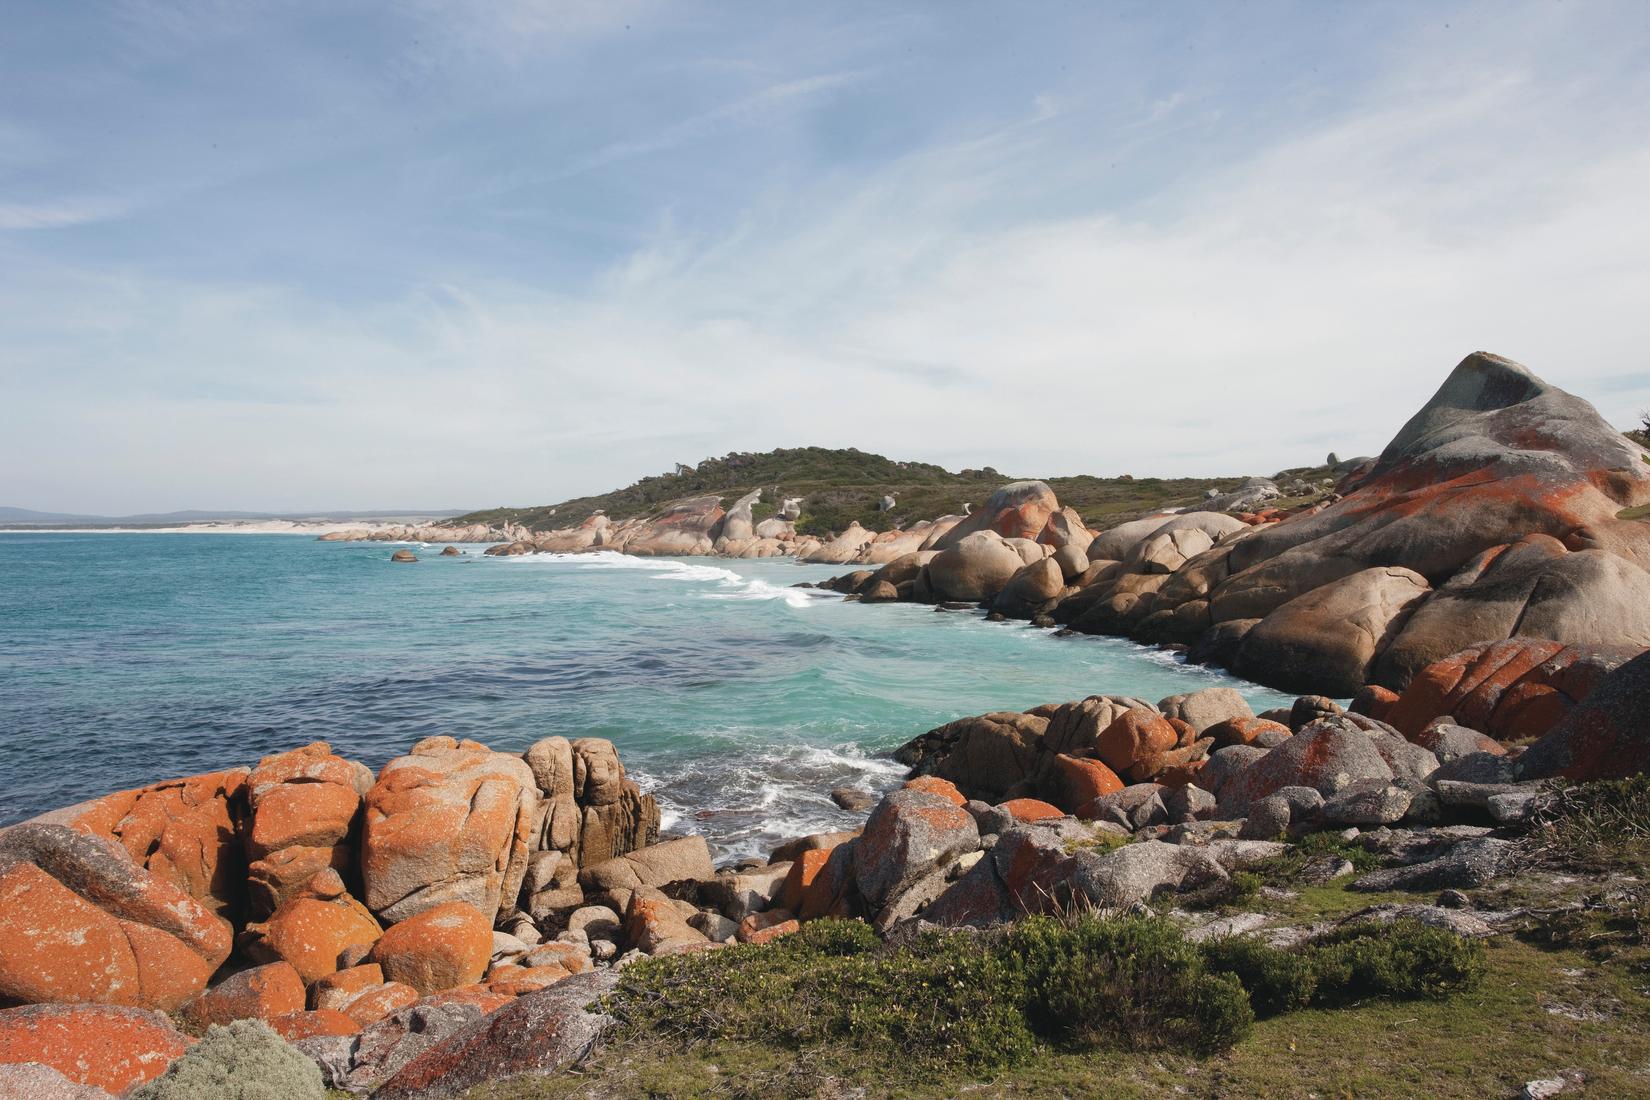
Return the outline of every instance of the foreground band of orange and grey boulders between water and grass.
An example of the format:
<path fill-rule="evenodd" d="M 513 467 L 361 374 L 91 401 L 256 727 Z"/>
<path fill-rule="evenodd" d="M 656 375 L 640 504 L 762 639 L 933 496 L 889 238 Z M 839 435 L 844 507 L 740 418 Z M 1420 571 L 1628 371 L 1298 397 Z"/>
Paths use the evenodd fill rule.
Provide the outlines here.
<path fill-rule="evenodd" d="M 1502 642 L 1351 709 L 1213 688 L 983 714 L 901 747 L 863 828 L 724 867 L 660 838 L 606 740 L 427 737 L 376 777 L 317 742 L 0 831 L 0 1095 L 130 1092 L 243 1021 L 315 1097 L 462 1095 L 584 1057 L 648 955 L 1209 897 L 1318 831 L 1401 854 L 1353 889 L 1480 886 L 1549 777 L 1643 769 L 1647 691 L 1650 651 Z"/>

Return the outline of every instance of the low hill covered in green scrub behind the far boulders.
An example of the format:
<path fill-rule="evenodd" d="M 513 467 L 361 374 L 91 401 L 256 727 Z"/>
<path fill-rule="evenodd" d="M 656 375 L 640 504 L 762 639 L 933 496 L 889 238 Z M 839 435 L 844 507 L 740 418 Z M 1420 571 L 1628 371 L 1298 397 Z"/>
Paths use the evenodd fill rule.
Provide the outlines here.
<path fill-rule="evenodd" d="M 706 458 L 698 465 L 678 465 L 672 473 L 647 477 L 635 485 L 602 493 L 579 496 L 558 505 L 536 508 L 492 508 L 459 516 L 454 523 L 520 523 L 535 531 L 563 528 L 579 523 L 597 508 L 614 519 L 658 511 L 663 505 L 685 496 L 721 496 L 731 503 L 754 488 L 762 490 L 762 503 L 756 518 L 772 515 L 784 496 L 802 498 L 802 519 L 797 529 L 805 534 L 842 531 L 858 519 L 866 528 L 886 529 L 889 519 L 906 524 L 960 513 L 965 503 L 978 506 L 993 488 L 1005 482 L 1035 475 L 1006 475 L 985 467 L 952 473 L 927 462 L 896 462 L 883 455 L 848 447 L 789 447 L 764 454 L 731 454 Z M 1327 477 L 1323 467 L 1284 470 L 1279 478 Z M 1044 478 L 1059 495 L 1094 526 L 1110 526 L 1135 516 L 1168 506 L 1191 505 L 1203 500 L 1206 490 L 1228 491 L 1242 483 L 1242 477 L 1211 478 L 1132 478 L 1132 477 L 1064 477 Z M 884 493 L 894 493 L 898 505 L 891 515 L 878 511 Z"/>

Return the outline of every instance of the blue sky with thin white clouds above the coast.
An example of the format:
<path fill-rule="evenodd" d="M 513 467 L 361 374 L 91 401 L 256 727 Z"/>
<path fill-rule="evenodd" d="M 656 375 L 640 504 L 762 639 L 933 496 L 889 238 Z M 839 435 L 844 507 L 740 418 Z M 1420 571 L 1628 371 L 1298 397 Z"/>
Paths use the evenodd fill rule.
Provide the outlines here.
<path fill-rule="evenodd" d="M 1642 0 L 0 0 L 0 505 L 1272 473 L 1473 350 L 1629 427 L 1647 104 Z"/>

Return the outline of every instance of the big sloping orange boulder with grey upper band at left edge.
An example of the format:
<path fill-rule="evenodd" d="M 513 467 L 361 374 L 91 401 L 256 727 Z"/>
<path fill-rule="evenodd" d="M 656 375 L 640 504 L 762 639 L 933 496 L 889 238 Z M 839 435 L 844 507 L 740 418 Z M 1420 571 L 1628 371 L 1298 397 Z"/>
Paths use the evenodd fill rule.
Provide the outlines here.
<path fill-rule="evenodd" d="M 170 1011 L 206 986 L 231 937 L 109 841 L 28 823 L 0 836 L 0 1001 Z"/>

